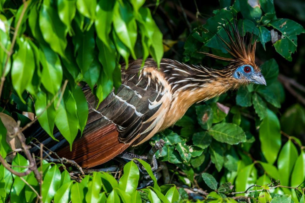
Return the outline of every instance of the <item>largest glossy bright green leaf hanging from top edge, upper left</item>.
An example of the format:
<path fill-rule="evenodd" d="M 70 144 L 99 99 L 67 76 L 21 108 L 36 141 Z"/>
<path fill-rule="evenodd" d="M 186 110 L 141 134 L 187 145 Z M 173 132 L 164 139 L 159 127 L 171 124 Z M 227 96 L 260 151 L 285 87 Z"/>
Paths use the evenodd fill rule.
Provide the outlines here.
<path fill-rule="evenodd" d="M 55 2 L 51 0 L 43 1 L 39 13 L 39 26 L 44 40 L 55 52 L 64 57 L 64 50 L 67 46 L 67 29 L 60 20 L 54 4 Z M 46 58 L 48 59 L 47 56 Z"/>

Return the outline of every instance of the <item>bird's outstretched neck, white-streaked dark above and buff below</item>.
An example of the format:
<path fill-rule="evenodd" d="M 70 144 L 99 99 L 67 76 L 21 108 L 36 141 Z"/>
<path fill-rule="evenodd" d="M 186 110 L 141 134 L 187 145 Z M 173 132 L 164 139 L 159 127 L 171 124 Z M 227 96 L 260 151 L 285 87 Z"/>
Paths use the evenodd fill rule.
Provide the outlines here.
<path fill-rule="evenodd" d="M 171 87 L 172 101 L 161 130 L 175 124 L 192 104 L 219 96 L 239 85 L 228 69 L 215 70 L 181 63 L 164 73 Z"/>

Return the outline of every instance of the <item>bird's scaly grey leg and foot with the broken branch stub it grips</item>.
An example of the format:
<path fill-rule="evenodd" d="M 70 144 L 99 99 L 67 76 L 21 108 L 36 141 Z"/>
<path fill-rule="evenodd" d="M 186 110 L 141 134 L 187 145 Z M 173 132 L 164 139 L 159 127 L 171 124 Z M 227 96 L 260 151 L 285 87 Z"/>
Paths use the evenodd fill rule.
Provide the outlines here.
<path fill-rule="evenodd" d="M 153 172 L 154 176 L 156 176 L 157 174 L 156 174 L 155 171 L 158 169 L 158 162 L 157 162 L 155 153 L 158 150 L 161 151 L 164 144 L 165 144 L 164 140 L 161 139 L 160 141 L 158 141 L 152 147 L 152 149 L 148 152 L 147 156 L 140 156 L 140 155 L 130 153 L 130 152 L 123 152 L 120 155 L 118 155 L 117 157 L 122 158 L 125 161 L 131 161 L 134 158 L 138 158 L 138 159 L 141 159 L 143 161 L 146 161 L 147 163 L 149 163 L 151 165 L 152 172 Z M 135 160 L 135 163 L 137 164 L 140 172 L 145 175 L 144 178 L 149 179 L 149 174 L 146 172 L 145 168 L 136 160 Z"/>

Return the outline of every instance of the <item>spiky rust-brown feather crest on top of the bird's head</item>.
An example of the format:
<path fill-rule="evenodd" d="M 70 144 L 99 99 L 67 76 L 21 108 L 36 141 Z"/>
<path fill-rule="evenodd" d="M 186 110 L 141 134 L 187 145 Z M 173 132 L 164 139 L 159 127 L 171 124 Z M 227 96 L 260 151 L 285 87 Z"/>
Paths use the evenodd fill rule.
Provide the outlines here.
<path fill-rule="evenodd" d="M 224 46 L 225 50 L 230 53 L 233 58 L 226 58 L 222 56 L 217 56 L 214 54 L 210 54 L 208 52 L 203 52 L 207 56 L 211 56 L 213 58 L 224 60 L 224 61 L 230 61 L 230 64 L 234 67 L 242 64 L 249 64 L 252 65 L 254 69 L 259 69 L 258 66 L 255 64 L 255 48 L 256 48 L 256 38 L 254 40 L 254 43 L 252 44 L 252 35 L 249 39 L 249 42 L 247 42 L 247 35 L 244 35 L 244 29 L 243 26 L 241 30 L 238 29 L 238 25 L 236 23 L 236 20 L 234 19 L 233 24 L 227 20 L 227 24 L 222 25 L 223 29 L 228 35 L 229 40 L 225 40 L 220 35 L 216 33 L 219 40 L 222 42 L 222 45 Z"/>

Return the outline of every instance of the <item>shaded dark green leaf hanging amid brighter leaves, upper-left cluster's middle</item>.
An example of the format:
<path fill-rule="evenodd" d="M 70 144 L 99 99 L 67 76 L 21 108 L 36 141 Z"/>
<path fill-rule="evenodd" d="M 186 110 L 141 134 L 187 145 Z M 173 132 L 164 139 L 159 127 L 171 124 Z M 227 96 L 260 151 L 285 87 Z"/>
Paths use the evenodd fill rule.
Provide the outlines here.
<path fill-rule="evenodd" d="M 76 62 L 80 67 L 81 72 L 85 73 L 89 70 L 89 67 L 94 59 L 94 28 L 92 27 L 89 31 L 84 33 L 79 29 L 76 29 L 76 34 L 75 40 L 79 44 Z"/>

